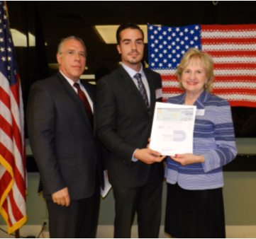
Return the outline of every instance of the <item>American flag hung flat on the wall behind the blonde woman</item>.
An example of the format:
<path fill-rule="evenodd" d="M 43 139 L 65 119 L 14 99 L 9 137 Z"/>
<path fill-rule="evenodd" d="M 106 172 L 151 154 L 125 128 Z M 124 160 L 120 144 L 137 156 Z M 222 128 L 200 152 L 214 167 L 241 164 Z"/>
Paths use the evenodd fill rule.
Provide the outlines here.
<path fill-rule="evenodd" d="M 175 71 L 190 47 L 213 57 L 213 94 L 256 107 L 256 25 L 148 25 L 149 67 L 162 76 L 164 101 L 182 93 Z"/>

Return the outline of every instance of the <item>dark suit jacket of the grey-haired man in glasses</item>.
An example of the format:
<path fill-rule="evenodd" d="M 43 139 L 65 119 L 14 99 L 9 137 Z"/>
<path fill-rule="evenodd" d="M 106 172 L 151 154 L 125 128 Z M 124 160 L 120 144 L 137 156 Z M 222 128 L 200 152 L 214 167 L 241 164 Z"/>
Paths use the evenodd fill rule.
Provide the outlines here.
<path fill-rule="evenodd" d="M 94 100 L 94 86 L 84 87 Z M 71 199 L 91 197 L 96 170 L 102 177 L 101 146 L 82 101 L 60 72 L 33 84 L 26 113 L 44 197 L 64 187 Z"/>

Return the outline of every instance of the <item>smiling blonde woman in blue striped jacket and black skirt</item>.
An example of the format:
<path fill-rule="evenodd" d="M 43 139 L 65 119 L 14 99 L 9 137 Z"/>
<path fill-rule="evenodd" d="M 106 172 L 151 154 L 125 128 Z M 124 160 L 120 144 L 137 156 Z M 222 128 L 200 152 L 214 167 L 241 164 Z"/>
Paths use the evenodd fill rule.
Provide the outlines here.
<path fill-rule="evenodd" d="M 175 238 L 225 238 L 222 166 L 237 154 L 230 105 L 211 94 L 208 54 L 189 49 L 177 76 L 184 93 L 167 103 L 196 105 L 194 153 L 167 158 L 165 232 Z"/>

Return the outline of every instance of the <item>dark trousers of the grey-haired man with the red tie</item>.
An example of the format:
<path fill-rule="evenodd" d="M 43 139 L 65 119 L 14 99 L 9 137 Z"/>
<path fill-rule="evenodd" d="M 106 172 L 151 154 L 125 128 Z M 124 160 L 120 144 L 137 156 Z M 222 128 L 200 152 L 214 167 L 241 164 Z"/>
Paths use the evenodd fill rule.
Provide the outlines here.
<path fill-rule="evenodd" d="M 50 238 L 96 238 L 99 219 L 99 187 L 92 197 L 72 200 L 60 206 L 46 200 L 49 212 Z"/>

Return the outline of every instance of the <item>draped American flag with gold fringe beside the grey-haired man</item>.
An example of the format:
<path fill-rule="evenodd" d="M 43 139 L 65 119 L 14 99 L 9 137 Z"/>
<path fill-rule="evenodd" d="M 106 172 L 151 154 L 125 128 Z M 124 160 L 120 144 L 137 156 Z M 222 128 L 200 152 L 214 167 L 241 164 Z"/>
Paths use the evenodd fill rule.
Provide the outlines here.
<path fill-rule="evenodd" d="M 4 1 L 0 1 L 0 212 L 13 233 L 27 221 L 21 82 Z"/>

